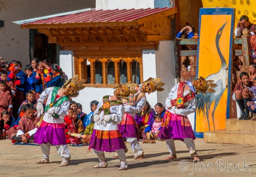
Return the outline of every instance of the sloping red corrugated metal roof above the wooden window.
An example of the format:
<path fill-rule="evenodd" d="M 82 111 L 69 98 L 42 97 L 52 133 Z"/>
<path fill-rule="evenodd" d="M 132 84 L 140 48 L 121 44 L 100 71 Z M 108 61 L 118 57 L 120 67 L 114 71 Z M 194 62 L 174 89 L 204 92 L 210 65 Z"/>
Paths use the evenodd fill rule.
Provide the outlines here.
<path fill-rule="evenodd" d="M 65 15 L 61 17 L 53 17 L 44 20 L 37 20 L 26 24 L 65 24 L 65 23 L 85 23 L 85 22 L 121 22 L 121 21 L 133 21 L 139 18 L 147 17 L 162 11 L 166 11 L 164 8 L 148 8 L 148 9 L 114 9 L 114 10 L 91 10 L 82 13 L 75 13 Z"/>

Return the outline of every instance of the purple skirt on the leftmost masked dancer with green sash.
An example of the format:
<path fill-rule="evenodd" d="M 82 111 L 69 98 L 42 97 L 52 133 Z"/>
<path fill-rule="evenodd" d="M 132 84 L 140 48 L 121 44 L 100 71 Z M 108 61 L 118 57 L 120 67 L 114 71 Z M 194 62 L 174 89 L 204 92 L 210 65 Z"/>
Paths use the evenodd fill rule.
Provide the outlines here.
<path fill-rule="evenodd" d="M 37 144 L 64 145 L 67 144 L 63 124 L 53 124 L 42 121 L 35 133 L 34 142 Z"/>

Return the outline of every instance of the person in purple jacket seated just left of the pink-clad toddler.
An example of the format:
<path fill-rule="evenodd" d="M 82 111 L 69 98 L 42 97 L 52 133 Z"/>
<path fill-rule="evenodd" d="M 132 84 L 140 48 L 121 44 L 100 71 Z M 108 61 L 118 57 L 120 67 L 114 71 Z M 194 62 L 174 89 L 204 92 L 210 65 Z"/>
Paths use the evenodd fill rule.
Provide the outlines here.
<path fill-rule="evenodd" d="M 144 129 L 148 127 L 150 131 L 154 123 L 154 113 L 151 111 L 151 106 L 148 101 L 145 107 L 142 108 L 142 111 L 135 115 L 134 119 L 138 125 L 139 138 L 147 139 Z"/>

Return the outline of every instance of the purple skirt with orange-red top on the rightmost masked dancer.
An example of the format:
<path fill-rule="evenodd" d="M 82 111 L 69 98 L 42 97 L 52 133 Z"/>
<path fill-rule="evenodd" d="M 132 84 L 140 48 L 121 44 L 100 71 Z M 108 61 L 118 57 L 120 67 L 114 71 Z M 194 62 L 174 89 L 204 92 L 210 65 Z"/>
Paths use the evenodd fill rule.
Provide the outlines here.
<path fill-rule="evenodd" d="M 158 134 L 160 138 L 182 140 L 184 138 L 196 138 L 187 116 L 180 116 L 169 111 L 165 112 L 163 122 Z"/>

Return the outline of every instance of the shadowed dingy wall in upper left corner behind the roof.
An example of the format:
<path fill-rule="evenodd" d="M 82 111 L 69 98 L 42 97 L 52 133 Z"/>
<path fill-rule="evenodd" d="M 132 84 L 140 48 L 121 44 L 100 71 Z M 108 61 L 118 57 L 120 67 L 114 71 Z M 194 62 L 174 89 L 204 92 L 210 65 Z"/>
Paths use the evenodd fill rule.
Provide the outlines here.
<path fill-rule="evenodd" d="M 29 30 L 13 21 L 42 17 L 68 11 L 95 8 L 95 0 L 0 0 L 0 56 L 6 61 L 29 64 Z"/>

